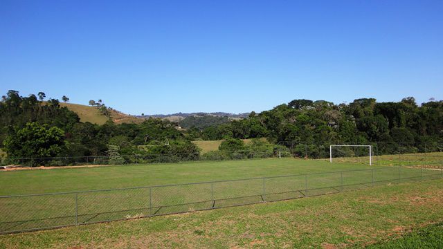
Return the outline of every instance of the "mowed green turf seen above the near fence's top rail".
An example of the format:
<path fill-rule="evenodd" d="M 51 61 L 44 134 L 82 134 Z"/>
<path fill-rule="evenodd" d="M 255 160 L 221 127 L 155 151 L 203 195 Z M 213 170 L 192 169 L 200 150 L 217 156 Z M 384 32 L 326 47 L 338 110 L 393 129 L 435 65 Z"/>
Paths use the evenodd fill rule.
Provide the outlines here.
<path fill-rule="evenodd" d="M 357 163 L 269 158 L 17 170 L 0 172 L 0 195 L 105 190 L 372 168 Z"/>

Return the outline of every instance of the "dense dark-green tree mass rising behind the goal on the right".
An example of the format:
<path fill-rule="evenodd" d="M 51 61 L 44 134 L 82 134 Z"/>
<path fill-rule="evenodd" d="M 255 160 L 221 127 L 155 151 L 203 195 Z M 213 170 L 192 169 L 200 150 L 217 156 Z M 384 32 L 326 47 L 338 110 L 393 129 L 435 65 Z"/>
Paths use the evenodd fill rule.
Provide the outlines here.
<path fill-rule="evenodd" d="M 350 104 L 325 100 L 292 100 L 287 104 L 252 112 L 244 120 L 219 124 L 202 131 L 190 129 L 195 138 L 267 138 L 271 142 L 298 146 L 331 144 L 386 145 L 385 153 L 410 145 L 443 142 L 443 101 L 430 100 L 420 105 L 413 97 L 400 102 L 377 102 L 361 98 Z M 417 150 L 417 148 L 415 148 Z M 442 147 L 434 148 L 442 150 Z"/>

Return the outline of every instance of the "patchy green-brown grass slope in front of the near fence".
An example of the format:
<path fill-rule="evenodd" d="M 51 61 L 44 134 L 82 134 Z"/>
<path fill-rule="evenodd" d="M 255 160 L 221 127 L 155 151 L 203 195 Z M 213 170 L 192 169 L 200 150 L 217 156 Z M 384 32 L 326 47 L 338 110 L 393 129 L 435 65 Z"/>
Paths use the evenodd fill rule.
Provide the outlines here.
<path fill-rule="evenodd" d="M 401 183 L 291 201 L 6 234 L 0 235 L 0 248 L 361 248 L 442 222 L 443 209 L 438 208 L 442 203 L 443 180 Z"/>

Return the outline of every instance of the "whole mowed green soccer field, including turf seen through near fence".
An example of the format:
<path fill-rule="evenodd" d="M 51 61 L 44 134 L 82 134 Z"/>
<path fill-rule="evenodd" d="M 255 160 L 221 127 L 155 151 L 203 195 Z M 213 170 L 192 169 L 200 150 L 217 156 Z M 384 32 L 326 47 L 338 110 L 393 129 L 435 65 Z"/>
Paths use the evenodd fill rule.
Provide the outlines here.
<path fill-rule="evenodd" d="M 441 173 L 292 158 L 1 172 L 0 232 L 296 199 Z"/>

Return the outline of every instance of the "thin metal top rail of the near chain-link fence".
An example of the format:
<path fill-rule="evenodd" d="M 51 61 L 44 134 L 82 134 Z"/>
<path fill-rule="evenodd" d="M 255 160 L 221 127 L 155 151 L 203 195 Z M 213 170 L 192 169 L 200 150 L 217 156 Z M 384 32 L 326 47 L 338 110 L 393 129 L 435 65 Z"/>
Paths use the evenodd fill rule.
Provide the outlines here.
<path fill-rule="evenodd" d="M 338 174 L 344 172 L 363 172 L 363 171 L 372 171 L 377 169 L 389 169 L 389 168 L 399 168 L 400 166 L 384 166 L 384 167 L 376 167 L 371 169 L 350 169 L 350 170 L 341 170 L 335 172 L 316 172 L 316 173 L 308 173 L 308 174 L 291 174 L 284 176 L 267 176 L 267 177 L 255 177 L 255 178 L 241 178 L 241 179 L 233 179 L 233 180 L 220 180 L 220 181 L 206 181 L 206 182 L 197 182 L 197 183 L 179 183 L 179 184 L 167 184 L 167 185 L 151 185 L 151 186 L 141 186 L 141 187 L 123 187 L 123 188 L 113 188 L 113 189 L 105 189 L 105 190 L 82 190 L 82 191 L 71 191 L 71 192 L 53 192 L 53 193 L 42 193 L 42 194 L 17 194 L 17 195 L 8 195 L 8 196 L 0 196 L 2 198 L 15 198 L 15 197 L 30 197 L 30 196 L 48 196 L 48 195 L 61 195 L 61 194 L 83 194 L 83 193 L 91 193 L 91 192 L 109 192 L 109 191 L 118 191 L 118 190 L 140 190 L 140 189 L 149 189 L 154 187 L 176 187 L 176 186 L 186 186 L 186 185 L 199 185 L 199 184 L 210 184 L 210 183 L 229 183 L 229 182 L 237 182 L 237 181 L 251 181 L 251 180 L 262 180 L 262 179 L 273 179 L 273 178 L 284 178 L 284 177 L 296 177 L 296 176 L 312 176 L 319 174 Z"/>

